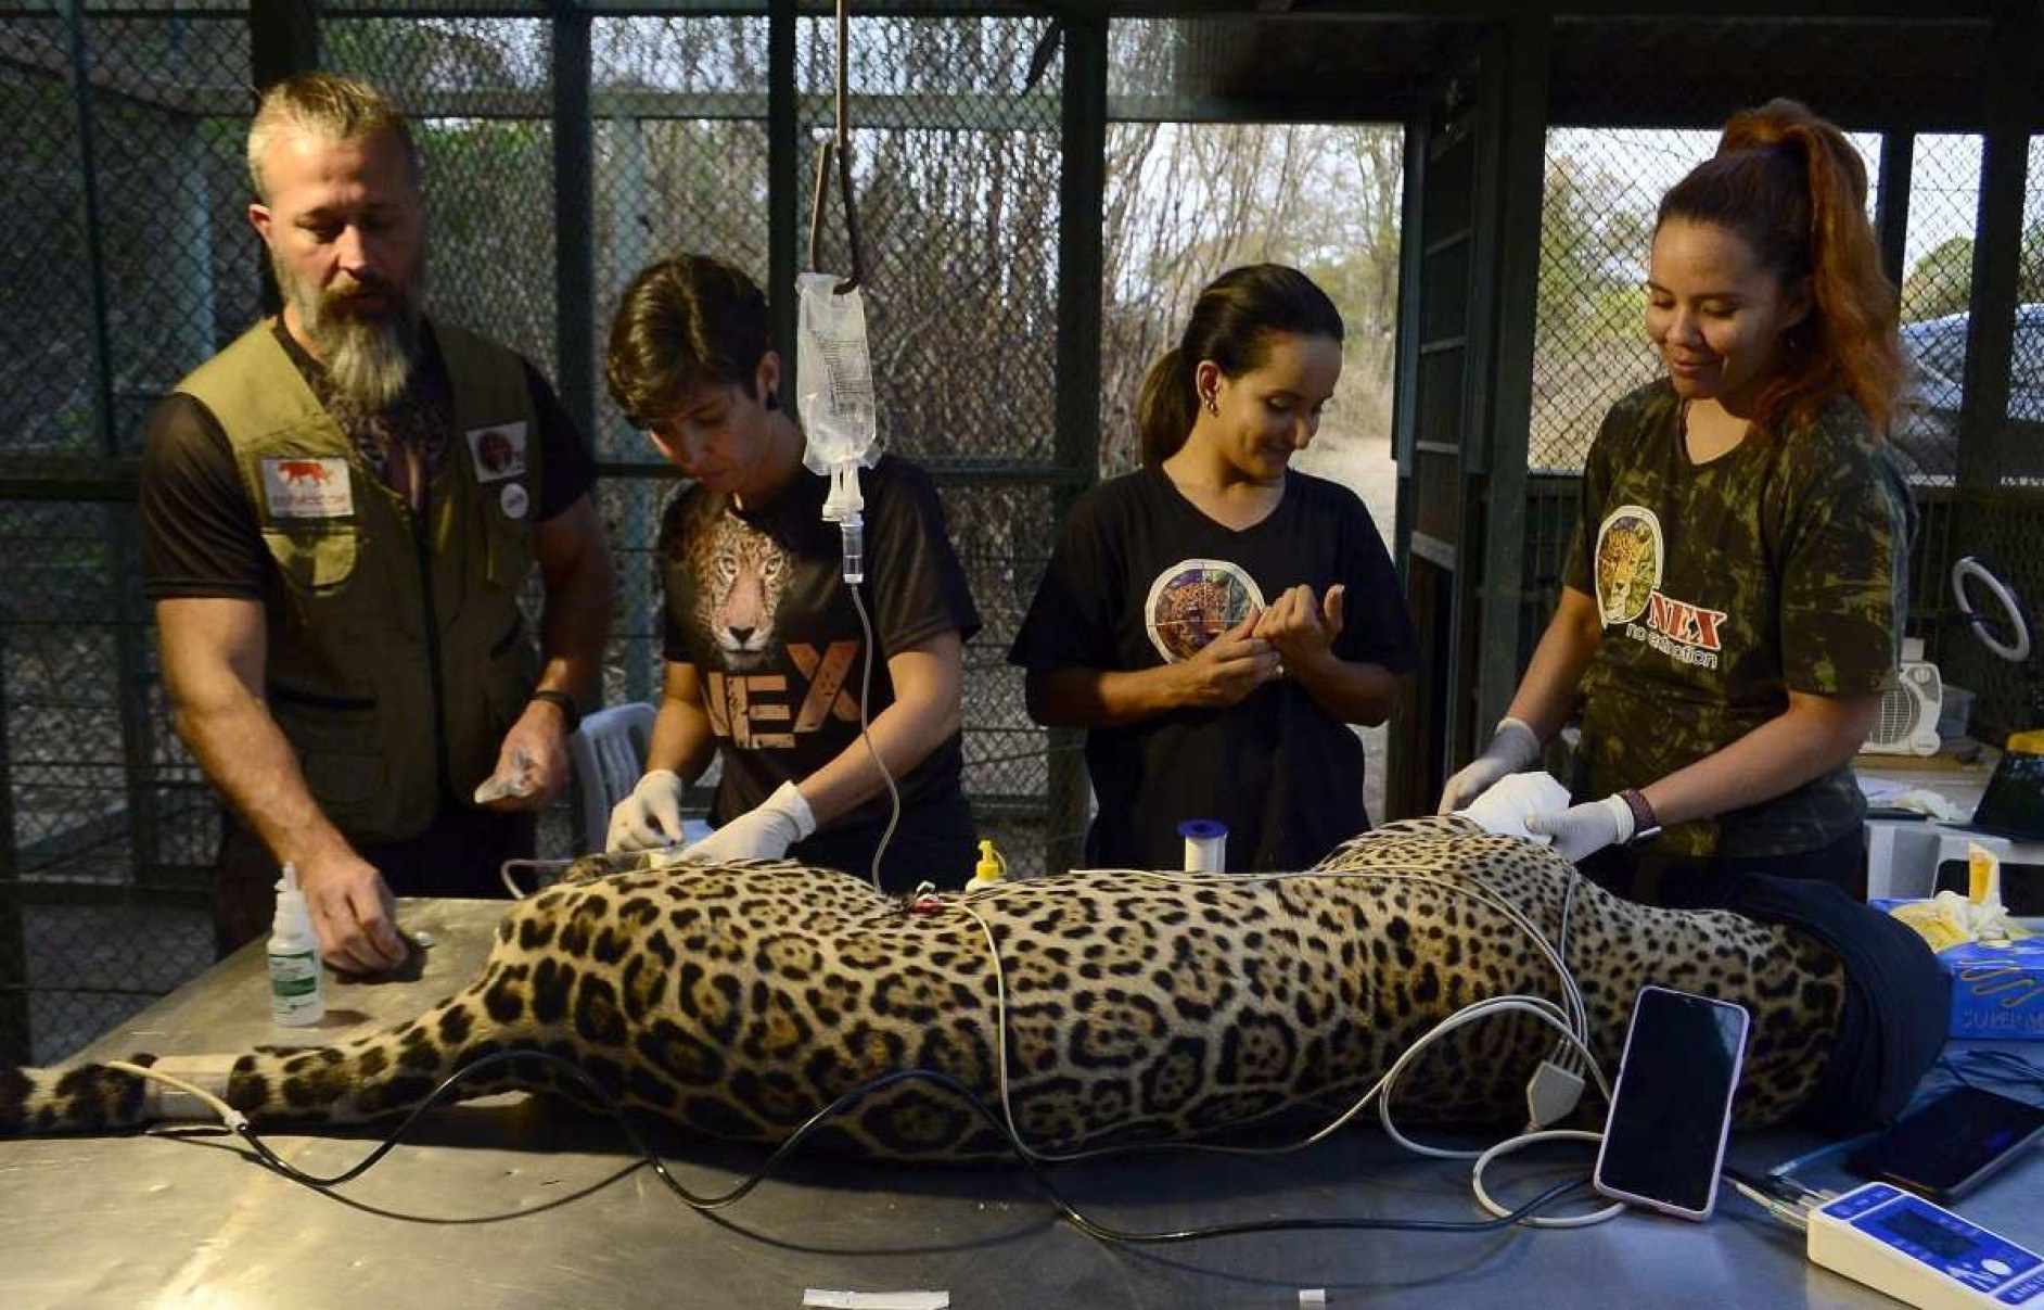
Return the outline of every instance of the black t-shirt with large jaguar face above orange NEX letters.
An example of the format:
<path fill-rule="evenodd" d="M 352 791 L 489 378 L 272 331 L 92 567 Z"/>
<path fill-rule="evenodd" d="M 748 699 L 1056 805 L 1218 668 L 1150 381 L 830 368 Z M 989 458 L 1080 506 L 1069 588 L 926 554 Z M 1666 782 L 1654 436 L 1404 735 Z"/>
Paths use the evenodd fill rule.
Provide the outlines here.
<path fill-rule="evenodd" d="M 858 486 L 867 572 L 858 591 L 877 646 L 865 707 L 871 721 L 895 699 L 887 658 L 948 629 L 969 640 L 979 611 L 928 474 L 881 456 L 858 474 Z M 809 777 L 858 738 L 865 629 L 842 576 L 840 529 L 822 517 L 828 490 L 828 478 L 803 468 L 771 503 L 738 509 L 730 497 L 691 484 L 660 521 L 664 648 L 670 662 L 693 664 L 701 679 L 724 758 L 711 813 L 717 824 L 781 783 Z M 963 762 L 961 736 L 953 734 L 895 779 L 903 815 L 948 811 L 953 826 L 969 822 Z M 848 852 L 836 854 L 840 867 L 865 871 L 856 850 L 871 860 L 891 809 L 881 791 L 832 820 L 834 852 Z M 908 817 L 903 828 L 912 828 Z"/>

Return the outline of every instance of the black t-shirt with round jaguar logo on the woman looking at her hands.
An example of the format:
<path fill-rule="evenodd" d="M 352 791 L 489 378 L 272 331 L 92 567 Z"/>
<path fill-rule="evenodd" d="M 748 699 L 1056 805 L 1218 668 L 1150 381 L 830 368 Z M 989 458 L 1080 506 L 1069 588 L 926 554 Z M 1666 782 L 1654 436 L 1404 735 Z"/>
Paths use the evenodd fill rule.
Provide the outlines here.
<path fill-rule="evenodd" d="M 1235 531 L 1143 468 L 1071 507 L 1008 658 L 1030 670 L 1179 662 L 1300 582 L 1316 597 L 1347 584 L 1339 658 L 1416 664 L 1398 574 L 1353 490 L 1288 472 L 1278 509 Z M 1294 683 L 1087 732 L 1085 766 L 1100 805 L 1091 864 L 1177 869 L 1183 820 L 1228 826 L 1233 871 L 1304 869 L 1369 828 L 1361 742 Z"/>

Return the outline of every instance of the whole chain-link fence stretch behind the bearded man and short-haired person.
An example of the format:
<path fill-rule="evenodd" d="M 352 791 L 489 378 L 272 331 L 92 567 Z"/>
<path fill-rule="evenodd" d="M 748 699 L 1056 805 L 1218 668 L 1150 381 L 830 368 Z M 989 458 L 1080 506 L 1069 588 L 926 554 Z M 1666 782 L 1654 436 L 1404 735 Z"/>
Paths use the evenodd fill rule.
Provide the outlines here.
<path fill-rule="evenodd" d="M 413 119 L 429 309 L 548 376 L 562 315 L 587 315 L 601 376 L 617 292 L 650 260 L 711 251 L 771 284 L 775 206 L 807 217 L 832 125 L 836 27 L 793 25 L 795 131 L 773 141 L 764 14 L 589 16 L 589 223 L 570 229 L 558 6 L 523 8 L 323 4 L 317 61 Z M 217 801 L 168 728 L 119 460 L 139 452 L 153 401 L 260 313 L 260 243 L 241 221 L 249 29 L 229 4 L 0 18 L 0 96 L 20 139 L 8 196 L 43 233 L 0 253 L 16 382 L 4 441 L 10 472 L 51 474 L 35 484 L 47 501 L 0 499 L 14 562 L 0 582 L 4 1055 L 53 1059 L 211 954 Z M 967 789 L 1018 873 L 1042 869 L 1053 764 L 1004 654 L 1061 488 L 1085 478 L 1057 466 L 1065 55 L 1051 35 L 1034 16 L 863 16 L 848 78 L 883 439 L 936 474 L 985 619 L 969 648 Z M 801 182 L 777 196 L 783 149 Z M 828 219 L 824 266 L 842 270 L 836 198 Z M 556 296 L 572 260 L 593 270 L 585 305 Z M 587 421 L 619 578 L 605 699 L 654 699 L 650 552 L 677 482 L 607 401 Z M 546 852 L 570 842 L 566 813 L 550 815 Z"/>

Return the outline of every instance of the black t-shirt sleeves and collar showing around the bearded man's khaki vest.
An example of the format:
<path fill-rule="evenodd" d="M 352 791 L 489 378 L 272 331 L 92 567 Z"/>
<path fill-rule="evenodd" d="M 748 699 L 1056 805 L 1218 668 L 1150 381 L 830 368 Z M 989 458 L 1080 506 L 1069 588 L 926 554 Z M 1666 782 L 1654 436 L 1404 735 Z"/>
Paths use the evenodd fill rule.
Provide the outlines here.
<path fill-rule="evenodd" d="M 305 374 L 315 394 L 323 384 L 321 366 L 290 339 L 282 323 L 272 323 L 284 354 Z M 452 421 L 448 366 L 427 333 L 427 356 L 413 390 L 433 399 Z M 540 507 L 546 523 L 589 495 L 595 462 L 574 419 L 562 409 L 540 370 L 525 362 L 540 441 Z M 439 441 L 446 450 L 448 441 Z M 370 462 L 374 468 L 376 462 Z M 431 464 L 427 464 L 431 472 Z M 256 507 L 235 468 L 235 454 L 213 411 L 194 396 L 172 392 L 149 411 L 147 446 L 137 488 L 141 513 L 143 597 L 235 597 L 262 601 L 276 584 L 270 552 L 256 525 Z"/>

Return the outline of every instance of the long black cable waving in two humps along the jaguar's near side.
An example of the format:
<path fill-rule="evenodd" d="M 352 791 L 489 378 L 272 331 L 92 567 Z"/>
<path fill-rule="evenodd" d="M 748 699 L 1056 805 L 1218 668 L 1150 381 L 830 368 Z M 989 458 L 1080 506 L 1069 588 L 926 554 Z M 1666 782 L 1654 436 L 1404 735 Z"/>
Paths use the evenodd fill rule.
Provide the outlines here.
<path fill-rule="evenodd" d="M 247 1124 L 245 1120 L 235 1126 L 235 1132 L 249 1144 L 251 1151 L 256 1151 L 258 1159 L 262 1159 L 262 1163 L 268 1169 L 272 1169 L 274 1173 L 278 1173 L 278 1175 L 282 1175 L 282 1177 L 286 1177 L 286 1179 L 290 1179 L 294 1183 L 300 1183 L 305 1187 L 311 1187 L 315 1191 L 325 1191 L 329 1187 L 337 1187 L 339 1183 L 347 1183 L 347 1181 L 352 1181 L 352 1179 L 362 1177 L 364 1173 L 368 1173 L 376 1163 L 380 1163 L 386 1155 L 390 1155 L 390 1151 L 397 1149 L 397 1144 L 405 1138 L 405 1134 L 411 1130 L 411 1126 L 427 1110 L 431 1110 L 433 1106 L 437 1106 L 439 1102 L 444 1102 L 462 1081 L 466 1081 L 466 1079 L 482 1073 L 484 1069 L 491 1069 L 495 1065 L 503 1065 L 503 1063 L 509 1063 L 509 1061 L 540 1061 L 544 1065 L 554 1065 L 556 1069 L 564 1069 L 572 1077 L 572 1081 L 576 1081 L 580 1087 L 585 1087 L 589 1093 L 595 1095 L 595 1100 L 603 1106 L 603 1110 L 611 1116 L 611 1120 L 617 1122 L 619 1130 L 625 1134 L 625 1140 L 632 1144 L 632 1151 L 638 1153 L 638 1157 L 654 1171 L 654 1175 L 662 1183 L 666 1183 L 668 1191 L 672 1191 L 677 1198 L 681 1198 L 693 1210 L 719 1210 L 724 1206 L 730 1206 L 730 1204 L 742 1200 L 746 1194 L 750 1194 L 754 1187 L 758 1187 L 762 1181 L 766 1181 L 766 1177 L 781 1165 L 781 1161 L 787 1159 L 787 1155 L 791 1155 L 816 1128 L 820 1128 L 828 1120 L 838 1118 L 850 1106 L 858 1104 L 867 1095 L 873 1095 L 875 1091 L 883 1091 L 883 1089 L 887 1089 L 887 1087 L 891 1087 L 895 1083 L 910 1081 L 910 1079 L 934 1083 L 938 1087 L 944 1087 L 944 1089 L 953 1091 L 961 1100 L 965 1100 L 967 1106 L 973 1108 L 973 1112 L 977 1112 L 983 1120 L 987 1120 L 989 1124 L 993 1124 L 1016 1147 L 1016 1155 L 1020 1157 L 1022 1165 L 1026 1167 L 1030 1183 L 1042 1194 L 1042 1198 L 1071 1226 L 1075 1226 L 1079 1232 L 1085 1232 L 1087 1236 L 1094 1236 L 1094 1238 L 1100 1238 L 1100 1241 L 1108 1241 L 1108 1243 L 1122 1243 L 1122 1245 L 1165 1245 L 1165 1243 L 1206 1241 L 1206 1238 L 1216 1238 L 1216 1236 L 1243 1236 L 1243 1234 L 1251 1234 L 1251 1232 L 1333 1232 L 1333 1230 L 1494 1232 L 1498 1228 L 1506 1228 L 1511 1224 L 1517 1224 L 1517 1222 L 1521 1222 L 1525 1218 L 1531 1218 L 1531 1216 L 1539 1214 L 1541 1210 L 1545 1210 L 1547 1206 L 1560 1202 L 1562 1198 L 1566 1198 L 1566 1196 L 1570 1196 L 1574 1191 L 1580 1191 L 1590 1181 L 1590 1179 L 1584 1177 L 1584 1179 L 1570 1179 L 1566 1183 L 1558 1183 L 1558 1185 L 1549 1187 L 1547 1191 L 1541 1191 L 1533 1200 L 1525 1202 L 1523 1206 L 1519 1206 L 1511 1214 L 1504 1214 L 1500 1218 L 1488 1218 L 1488 1220 L 1296 1218 L 1296 1220 L 1255 1220 L 1255 1222 L 1245 1222 L 1245 1224 L 1214 1224 L 1214 1226 L 1208 1226 L 1208 1228 L 1179 1228 L 1179 1230 L 1171 1230 L 1171 1232 L 1134 1232 L 1134 1230 L 1112 1228 L 1108 1224 L 1094 1222 L 1085 1214 L 1081 1214 L 1069 1200 L 1065 1200 L 1065 1194 L 1059 1191 L 1051 1183 L 1051 1179 L 1044 1175 L 1044 1165 L 1040 1161 L 1036 1161 L 1034 1157 L 1030 1157 L 1022 1149 L 1020 1140 L 1008 1128 L 1006 1120 L 1002 1116 L 997 1116 L 983 1100 L 979 1100 L 979 1095 L 971 1087 L 967 1087 L 959 1079 L 950 1077 L 948 1073 L 938 1073 L 934 1069 L 901 1069 L 901 1071 L 895 1071 L 895 1073 L 881 1075 L 881 1077 L 877 1077 L 877 1079 L 873 1079 L 873 1081 L 869 1081 L 869 1083 L 865 1083 L 861 1087 L 854 1087 L 854 1089 L 846 1091 L 844 1095 L 840 1095 L 838 1100 L 834 1100 L 828 1106 L 824 1106 L 822 1110 L 818 1110 L 816 1114 L 811 1114 L 807 1120 L 801 1122 L 801 1126 L 795 1128 L 793 1134 L 787 1136 L 787 1140 L 783 1140 L 779 1147 L 775 1147 L 775 1151 L 766 1157 L 766 1161 L 758 1169 L 752 1171 L 750 1177 L 742 1179 L 730 1191 L 724 1191 L 722 1196 L 697 1196 L 697 1194 L 689 1191 L 668 1171 L 666 1161 L 662 1161 L 658 1157 L 658 1153 L 654 1153 L 652 1147 L 646 1144 L 646 1138 L 640 1136 L 638 1128 L 632 1126 L 630 1116 L 623 1112 L 623 1108 L 617 1104 L 617 1100 L 611 1097 L 611 1093 L 601 1083 L 597 1083 L 578 1065 L 574 1065 L 570 1061 L 564 1061 L 558 1055 L 552 1055 L 552 1052 L 546 1052 L 546 1050 L 497 1050 L 497 1052 L 491 1052 L 491 1055 L 486 1055 L 486 1057 L 482 1057 L 482 1059 L 478 1059 L 478 1061 L 474 1061 L 470 1065 L 464 1065 L 462 1069 L 456 1069 L 437 1087 L 433 1087 L 431 1095 L 427 1095 L 423 1102 L 419 1102 L 419 1106 L 415 1106 L 411 1110 L 411 1114 L 405 1116 L 405 1120 L 390 1132 L 390 1136 L 382 1144 L 378 1144 L 374 1151 L 370 1151 L 352 1169 L 345 1169 L 345 1171 L 335 1173 L 331 1177 L 317 1177 L 317 1175 L 305 1173 L 296 1165 L 290 1165 L 288 1161 L 284 1161 L 282 1157 L 278 1157 L 274 1151 L 270 1151 L 270 1147 L 262 1140 L 262 1136 L 256 1132 L 256 1128 L 251 1124 Z"/>

